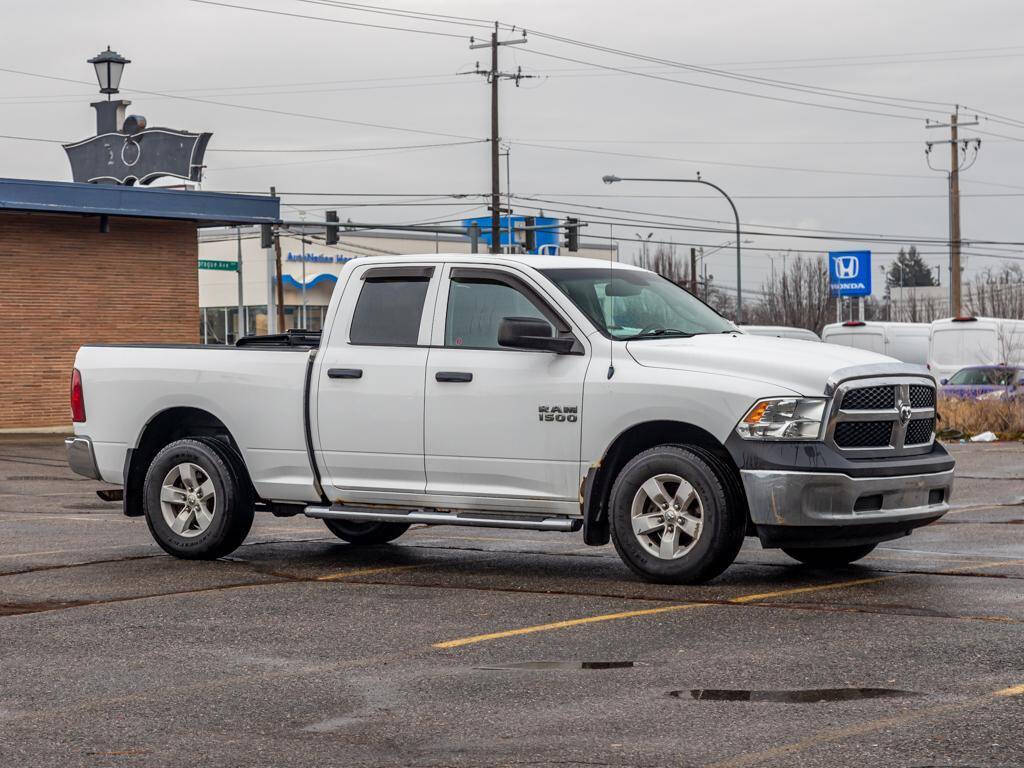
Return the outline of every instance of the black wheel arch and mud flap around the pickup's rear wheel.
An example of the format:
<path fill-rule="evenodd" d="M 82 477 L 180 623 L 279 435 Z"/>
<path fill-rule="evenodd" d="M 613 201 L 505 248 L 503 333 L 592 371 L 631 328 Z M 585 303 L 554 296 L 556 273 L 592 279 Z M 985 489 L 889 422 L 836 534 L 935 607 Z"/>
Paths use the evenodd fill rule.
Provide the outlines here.
<path fill-rule="evenodd" d="M 201 408 L 176 406 L 154 414 L 139 433 L 135 447 L 125 456 L 124 513 L 128 517 L 142 515 L 142 494 L 146 470 L 162 447 L 185 437 L 206 437 L 223 446 L 236 472 L 248 485 L 253 499 L 259 496 L 242 459 L 242 452 L 230 430 L 214 414 Z"/>

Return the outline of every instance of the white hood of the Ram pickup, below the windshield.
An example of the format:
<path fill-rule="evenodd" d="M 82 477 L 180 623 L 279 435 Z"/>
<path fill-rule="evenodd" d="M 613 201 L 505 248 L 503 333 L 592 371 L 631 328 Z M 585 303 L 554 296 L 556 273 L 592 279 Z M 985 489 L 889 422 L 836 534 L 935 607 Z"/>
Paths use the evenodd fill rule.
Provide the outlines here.
<path fill-rule="evenodd" d="M 641 366 L 720 374 L 774 384 L 804 395 L 822 394 L 830 376 L 852 366 L 897 364 L 884 354 L 817 341 L 749 334 L 630 341 Z M 919 373 L 906 366 L 906 373 Z"/>

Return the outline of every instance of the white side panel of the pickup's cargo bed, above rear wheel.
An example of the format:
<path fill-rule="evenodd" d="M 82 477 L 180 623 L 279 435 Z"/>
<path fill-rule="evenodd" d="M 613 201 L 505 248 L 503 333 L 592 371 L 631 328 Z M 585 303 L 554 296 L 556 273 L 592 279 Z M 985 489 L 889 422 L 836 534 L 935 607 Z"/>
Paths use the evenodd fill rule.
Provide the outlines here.
<path fill-rule="evenodd" d="M 146 425 L 177 407 L 206 411 L 234 438 L 266 499 L 315 501 L 303 431 L 307 351 L 203 346 L 88 346 L 82 374 L 86 421 L 108 482 L 124 482 L 128 449 Z"/>

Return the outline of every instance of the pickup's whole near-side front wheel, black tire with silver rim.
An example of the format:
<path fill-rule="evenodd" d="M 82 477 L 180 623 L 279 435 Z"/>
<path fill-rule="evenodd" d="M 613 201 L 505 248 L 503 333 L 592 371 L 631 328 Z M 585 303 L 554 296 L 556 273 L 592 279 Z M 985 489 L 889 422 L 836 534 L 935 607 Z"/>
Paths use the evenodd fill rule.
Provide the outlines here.
<path fill-rule="evenodd" d="M 718 466 L 702 451 L 658 445 L 618 473 L 608 503 L 611 540 L 642 579 L 699 584 L 736 558 L 746 516 L 729 504 Z"/>

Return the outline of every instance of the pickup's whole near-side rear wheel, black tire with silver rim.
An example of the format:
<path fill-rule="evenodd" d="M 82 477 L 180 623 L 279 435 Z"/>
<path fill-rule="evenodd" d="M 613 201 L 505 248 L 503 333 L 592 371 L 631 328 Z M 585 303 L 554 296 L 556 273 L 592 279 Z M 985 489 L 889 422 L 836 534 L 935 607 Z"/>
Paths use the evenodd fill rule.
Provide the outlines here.
<path fill-rule="evenodd" d="M 154 457 L 143 486 L 145 521 L 175 557 L 212 560 L 238 549 L 253 501 L 228 451 L 205 438 L 175 440 Z"/>

